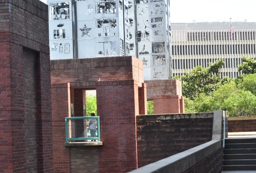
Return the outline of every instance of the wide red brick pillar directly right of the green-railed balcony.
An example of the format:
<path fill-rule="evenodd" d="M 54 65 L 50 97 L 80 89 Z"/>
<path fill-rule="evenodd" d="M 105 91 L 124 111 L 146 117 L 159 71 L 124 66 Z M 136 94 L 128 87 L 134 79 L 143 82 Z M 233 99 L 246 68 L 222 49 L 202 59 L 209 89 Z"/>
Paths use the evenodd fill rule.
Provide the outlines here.
<path fill-rule="evenodd" d="M 126 173 L 137 169 L 136 107 L 134 80 L 96 82 L 100 116 L 100 173 Z M 138 90 L 138 89 L 137 89 Z M 138 111 L 137 111 L 138 113 Z"/>

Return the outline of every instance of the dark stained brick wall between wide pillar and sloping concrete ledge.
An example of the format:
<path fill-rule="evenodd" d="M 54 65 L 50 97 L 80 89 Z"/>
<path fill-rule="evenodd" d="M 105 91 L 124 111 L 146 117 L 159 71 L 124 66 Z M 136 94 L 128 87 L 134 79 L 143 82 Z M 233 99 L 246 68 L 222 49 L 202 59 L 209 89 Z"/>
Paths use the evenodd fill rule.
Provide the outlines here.
<path fill-rule="evenodd" d="M 137 116 L 138 167 L 212 140 L 213 113 L 184 115 Z"/>

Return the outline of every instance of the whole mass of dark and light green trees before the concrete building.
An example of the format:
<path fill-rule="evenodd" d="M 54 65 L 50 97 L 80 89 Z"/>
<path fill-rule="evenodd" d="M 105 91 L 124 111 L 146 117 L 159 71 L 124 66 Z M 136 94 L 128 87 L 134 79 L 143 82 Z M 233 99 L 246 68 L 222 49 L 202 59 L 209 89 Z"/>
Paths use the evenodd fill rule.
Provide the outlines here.
<path fill-rule="evenodd" d="M 237 79 L 220 79 L 224 63 L 215 61 L 209 68 L 196 67 L 183 77 L 186 112 L 228 111 L 229 116 L 256 115 L 256 60 L 243 57 Z"/>

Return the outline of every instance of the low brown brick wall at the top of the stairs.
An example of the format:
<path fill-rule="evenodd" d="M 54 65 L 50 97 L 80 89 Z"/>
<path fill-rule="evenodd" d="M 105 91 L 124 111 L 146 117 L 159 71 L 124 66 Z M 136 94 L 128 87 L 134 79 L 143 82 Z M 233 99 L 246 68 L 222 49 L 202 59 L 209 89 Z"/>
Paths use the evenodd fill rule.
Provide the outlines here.
<path fill-rule="evenodd" d="M 238 116 L 227 118 L 228 132 L 256 131 L 256 116 Z"/>

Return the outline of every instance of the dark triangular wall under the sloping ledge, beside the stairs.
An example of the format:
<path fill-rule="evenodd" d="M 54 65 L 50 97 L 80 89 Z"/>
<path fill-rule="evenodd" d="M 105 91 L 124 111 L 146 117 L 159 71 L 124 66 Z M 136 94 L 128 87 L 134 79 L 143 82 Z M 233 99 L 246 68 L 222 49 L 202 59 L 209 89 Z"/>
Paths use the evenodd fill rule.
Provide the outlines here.
<path fill-rule="evenodd" d="M 219 148 L 184 173 L 222 173 L 223 149 Z"/>

